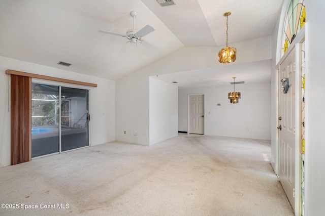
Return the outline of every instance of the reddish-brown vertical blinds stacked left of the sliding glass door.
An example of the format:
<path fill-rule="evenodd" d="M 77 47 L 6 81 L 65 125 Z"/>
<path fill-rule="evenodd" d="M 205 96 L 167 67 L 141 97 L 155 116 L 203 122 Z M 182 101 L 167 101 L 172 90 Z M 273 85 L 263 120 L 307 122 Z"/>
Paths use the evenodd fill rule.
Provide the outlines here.
<path fill-rule="evenodd" d="M 31 78 L 11 74 L 11 165 L 31 159 Z"/>

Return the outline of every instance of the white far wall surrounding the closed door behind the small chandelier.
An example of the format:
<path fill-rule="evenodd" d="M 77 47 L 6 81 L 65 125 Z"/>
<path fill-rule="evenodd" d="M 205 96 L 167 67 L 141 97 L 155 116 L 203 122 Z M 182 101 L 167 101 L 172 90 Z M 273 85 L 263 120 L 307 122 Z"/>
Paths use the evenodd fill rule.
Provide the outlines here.
<path fill-rule="evenodd" d="M 187 94 L 202 93 L 205 135 L 271 140 L 270 82 L 237 84 L 235 91 L 241 92 L 238 104 L 231 104 L 228 99 L 233 85 L 180 89 L 178 130 L 187 132 Z"/>

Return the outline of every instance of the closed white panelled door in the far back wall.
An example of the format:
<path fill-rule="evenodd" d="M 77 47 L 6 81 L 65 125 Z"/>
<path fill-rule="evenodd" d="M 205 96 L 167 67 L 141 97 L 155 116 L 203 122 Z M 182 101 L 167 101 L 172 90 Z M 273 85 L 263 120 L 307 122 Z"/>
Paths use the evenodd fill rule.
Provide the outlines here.
<path fill-rule="evenodd" d="M 188 106 L 188 133 L 204 134 L 204 95 L 190 95 Z"/>

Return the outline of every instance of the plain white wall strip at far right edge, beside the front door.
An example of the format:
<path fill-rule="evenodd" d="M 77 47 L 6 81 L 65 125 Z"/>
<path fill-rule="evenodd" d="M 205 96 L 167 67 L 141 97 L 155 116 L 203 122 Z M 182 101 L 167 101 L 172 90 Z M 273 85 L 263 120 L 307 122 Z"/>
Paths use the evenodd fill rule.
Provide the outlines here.
<path fill-rule="evenodd" d="M 324 12 L 324 1 L 306 1 L 305 215 L 325 212 Z"/>

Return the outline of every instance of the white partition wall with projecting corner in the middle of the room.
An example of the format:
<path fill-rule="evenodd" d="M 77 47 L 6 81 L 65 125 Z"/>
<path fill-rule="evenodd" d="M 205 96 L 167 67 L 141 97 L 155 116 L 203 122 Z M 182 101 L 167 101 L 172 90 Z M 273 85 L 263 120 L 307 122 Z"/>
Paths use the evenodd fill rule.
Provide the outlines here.
<path fill-rule="evenodd" d="M 177 136 L 175 134 L 175 132 L 177 133 L 177 108 L 175 111 L 175 107 L 177 107 L 177 100 L 175 99 L 178 97 L 177 87 L 170 83 L 154 80 L 153 77 L 149 79 L 149 76 L 152 75 L 151 71 L 155 70 L 152 70 L 149 65 L 116 81 L 115 137 L 117 141 L 151 145 Z M 149 81 L 156 84 L 156 86 L 151 83 L 149 88 Z M 157 87 L 161 87 L 167 92 L 163 93 Z M 171 99 L 168 104 L 169 108 L 156 107 L 152 103 L 152 101 L 156 100 L 155 97 L 162 97 L 166 101 L 167 96 Z M 149 103 L 149 97 L 151 103 Z M 149 113 L 149 107 L 151 113 Z M 158 112 L 162 108 L 165 109 L 164 117 L 159 117 Z M 170 119 L 169 114 L 172 114 L 175 120 L 168 123 L 161 122 L 166 118 Z M 150 121 L 149 116 L 152 118 Z M 175 128 L 175 131 L 173 128 Z"/>

